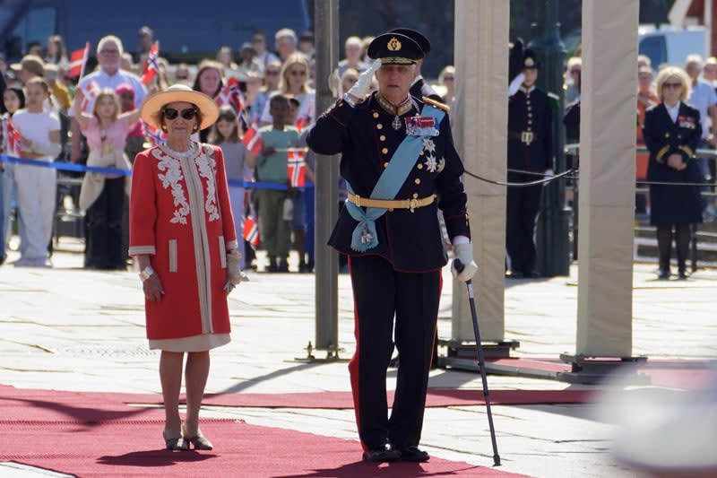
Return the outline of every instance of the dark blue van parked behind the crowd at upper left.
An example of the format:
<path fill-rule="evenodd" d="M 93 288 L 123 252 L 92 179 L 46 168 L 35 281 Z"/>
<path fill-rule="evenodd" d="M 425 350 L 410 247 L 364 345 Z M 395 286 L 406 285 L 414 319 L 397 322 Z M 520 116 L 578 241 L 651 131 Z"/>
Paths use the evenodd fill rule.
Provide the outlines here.
<path fill-rule="evenodd" d="M 125 51 L 139 47 L 137 30 L 148 25 L 160 40 L 160 55 L 171 63 L 195 63 L 214 57 L 220 46 L 235 51 L 255 30 L 267 35 L 284 27 L 298 33 L 310 28 L 307 0 L 4 0 L 0 2 L 0 48 L 13 61 L 53 34 L 62 35 L 68 50 L 82 48 L 108 34 L 122 39 Z"/>

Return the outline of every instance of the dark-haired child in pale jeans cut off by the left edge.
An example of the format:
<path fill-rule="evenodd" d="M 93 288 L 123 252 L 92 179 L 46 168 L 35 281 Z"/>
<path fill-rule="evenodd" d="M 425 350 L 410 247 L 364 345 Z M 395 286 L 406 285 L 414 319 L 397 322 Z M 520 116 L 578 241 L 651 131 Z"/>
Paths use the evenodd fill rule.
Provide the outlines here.
<path fill-rule="evenodd" d="M 3 104 L 7 111 L 2 117 L 3 128 L 3 154 L 12 152 L 8 151 L 7 142 L 7 126 L 10 118 L 18 109 L 25 108 L 25 93 L 22 88 L 7 88 L 3 92 Z M 13 203 L 16 201 L 15 187 L 15 165 L 12 162 L 0 162 L 0 264 L 5 262 L 7 258 L 7 242 L 13 231 Z M 18 230 L 20 232 L 20 244 L 24 247 L 27 245 L 25 239 L 25 225 L 22 223 L 22 216 L 17 214 Z"/>

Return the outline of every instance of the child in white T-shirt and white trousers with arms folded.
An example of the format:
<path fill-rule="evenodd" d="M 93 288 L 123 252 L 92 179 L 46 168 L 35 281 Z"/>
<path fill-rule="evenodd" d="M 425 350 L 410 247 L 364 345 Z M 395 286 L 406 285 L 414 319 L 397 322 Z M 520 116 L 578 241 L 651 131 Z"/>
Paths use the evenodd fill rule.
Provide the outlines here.
<path fill-rule="evenodd" d="M 60 119 L 44 108 L 49 98 L 48 83 L 40 77 L 25 83 L 26 107 L 13 115 L 13 127 L 20 134 L 22 158 L 55 161 L 61 151 Z M 48 244 L 56 203 L 56 171 L 27 164 L 15 166 L 18 211 L 25 225 L 26 244 L 15 265 L 48 267 Z"/>

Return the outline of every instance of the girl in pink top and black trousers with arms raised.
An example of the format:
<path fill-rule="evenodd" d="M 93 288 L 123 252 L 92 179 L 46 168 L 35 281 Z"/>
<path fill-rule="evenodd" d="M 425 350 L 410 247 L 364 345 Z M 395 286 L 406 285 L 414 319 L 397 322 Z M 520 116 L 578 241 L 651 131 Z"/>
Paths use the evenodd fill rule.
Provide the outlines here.
<path fill-rule="evenodd" d="M 87 165 L 99 168 L 132 169 L 125 154 L 127 135 L 139 119 L 139 109 L 120 114 L 117 93 L 99 91 L 92 114 L 82 111 L 82 90 L 77 90 L 74 117 L 87 137 Z M 87 172 L 82 178 L 80 208 L 87 211 L 85 267 L 126 270 L 122 251 L 122 211 L 129 180 L 122 174 Z"/>

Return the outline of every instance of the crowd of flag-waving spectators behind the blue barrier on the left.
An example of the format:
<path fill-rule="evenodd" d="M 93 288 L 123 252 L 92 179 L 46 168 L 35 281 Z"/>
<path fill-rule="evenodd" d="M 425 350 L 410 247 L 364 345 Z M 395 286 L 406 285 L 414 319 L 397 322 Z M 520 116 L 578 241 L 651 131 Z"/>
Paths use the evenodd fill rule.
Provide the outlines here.
<path fill-rule="evenodd" d="M 125 48 L 123 41 L 113 35 L 99 39 L 96 51 L 91 52 L 97 59 L 96 68 L 82 72 L 79 77 L 71 76 L 73 65 L 63 39 L 53 35 L 45 45 L 32 45 L 22 61 L 0 64 L 3 80 L 0 86 L 4 91 L 0 128 L 2 153 L 48 162 L 130 168 L 137 152 L 162 141 L 160 131 L 138 119 L 137 109 L 152 92 L 175 83 L 186 84 L 223 106 L 217 125 L 199 132 L 195 139 L 219 144 L 225 151 L 226 161 L 232 163 L 228 171 L 232 172 L 232 207 L 238 229 L 243 230 L 247 217 L 258 222 L 261 242 L 250 245 L 246 241 L 246 267 L 257 266 L 256 247 L 267 249 L 271 260 L 267 271 L 286 271 L 289 250 L 295 249 L 299 255 L 298 270 L 310 272 L 314 266 L 314 158 L 307 150 L 305 137 L 316 116 L 314 38 L 311 32 L 297 35 L 286 28 L 269 38 L 273 41 L 262 31 L 256 31 L 250 41 L 241 43 L 238 48 L 219 46 L 216 56 L 204 58 L 197 65 L 169 64 L 160 51 L 156 75 L 151 81 L 143 82 L 143 68 L 156 40 L 150 27 L 143 26 L 137 31 L 137 43 L 130 48 Z M 348 91 L 358 80 L 358 74 L 367 68 L 366 50 L 371 39 L 350 36 L 345 40 L 344 56 L 329 80 L 336 96 Z M 128 51 L 132 47 L 134 51 Z M 32 143 L 35 150 L 30 146 L 18 149 L 13 145 L 13 131 L 19 130 L 21 144 L 30 144 L 35 135 L 20 126 L 22 117 L 30 110 L 30 104 L 26 104 L 26 98 L 30 100 L 26 83 L 33 78 L 38 78 L 33 84 L 37 83 L 39 90 L 47 89 L 41 112 L 47 119 L 42 127 L 49 129 L 43 130 L 42 135 L 51 133 L 54 141 L 46 145 L 35 141 Z M 242 95 L 241 105 L 235 104 L 233 109 L 226 104 L 227 88 L 232 82 L 238 84 Z M 449 104 L 453 101 L 453 84 L 454 68 L 447 66 L 439 76 L 436 90 Z M 32 96 L 28 103 L 35 101 L 35 96 L 38 95 Z M 277 120 L 272 111 L 285 102 L 286 113 L 281 113 L 282 117 Z M 16 111 L 22 112 L 19 121 L 12 119 Z M 232 121 L 236 126 L 233 129 L 229 127 Z M 33 128 L 40 127 L 37 122 L 33 125 Z M 246 151 L 243 143 L 243 136 L 252 126 L 259 131 L 264 144 L 263 150 L 254 155 Z M 281 144 L 272 146 L 277 137 L 282 138 Z M 287 152 L 294 149 L 304 152 L 306 187 L 264 190 L 237 186 L 241 180 L 287 185 Z M 5 260 L 10 239 L 17 235 L 19 245 L 13 243 L 13 248 L 19 248 L 21 259 L 16 265 L 51 266 L 56 208 L 66 203 L 63 197 L 58 197 L 62 195 L 58 195 L 56 178 L 60 178 L 62 184 L 62 179 L 72 173 L 7 161 L 0 161 L 0 169 L 3 171 L 0 173 L 0 262 Z M 26 186 L 23 182 L 27 181 L 23 179 L 26 171 L 47 176 L 47 184 Z M 121 174 L 86 173 L 82 187 L 71 189 L 74 208 L 84 218 L 85 266 L 88 268 L 124 269 L 128 265 L 124 191 L 128 190 L 129 180 Z M 341 182 L 339 191 L 340 196 L 345 195 Z M 64 194 L 65 190 L 61 192 Z M 345 197 L 338 199 L 341 202 Z M 281 210 L 277 209 L 280 206 Z"/>

